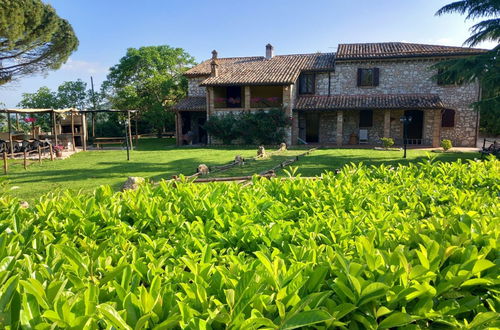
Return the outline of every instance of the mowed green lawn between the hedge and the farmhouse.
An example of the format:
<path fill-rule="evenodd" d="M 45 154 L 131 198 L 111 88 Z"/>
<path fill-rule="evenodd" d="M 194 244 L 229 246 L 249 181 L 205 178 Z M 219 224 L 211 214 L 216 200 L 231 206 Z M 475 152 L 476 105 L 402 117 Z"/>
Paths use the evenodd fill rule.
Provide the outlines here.
<path fill-rule="evenodd" d="M 124 150 L 80 152 L 65 160 L 34 163 L 24 170 L 22 161 L 11 163 L 9 174 L 0 178 L 7 180 L 7 191 L 23 200 L 34 200 L 51 192 L 61 190 L 91 191 L 100 185 L 120 189 L 129 176 L 140 176 L 152 181 L 170 179 L 173 175 L 195 173 L 199 164 L 208 166 L 231 162 L 236 155 L 250 158 L 256 155 L 256 147 L 210 147 L 177 148 L 171 139 L 139 140 L 137 150 L 126 160 Z M 303 153 L 306 149 L 289 150 L 270 159 L 248 162 L 245 166 L 214 173 L 213 176 L 252 175 Z M 430 153 L 424 150 L 408 150 L 408 158 L 402 159 L 400 151 L 377 151 L 373 149 L 319 149 L 302 157 L 293 166 L 303 176 L 320 175 L 344 164 L 364 162 L 369 165 L 397 165 L 424 161 L 435 157 L 436 161 L 473 159 L 478 153 Z M 284 174 L 279 171 L 278 174 Z"/>

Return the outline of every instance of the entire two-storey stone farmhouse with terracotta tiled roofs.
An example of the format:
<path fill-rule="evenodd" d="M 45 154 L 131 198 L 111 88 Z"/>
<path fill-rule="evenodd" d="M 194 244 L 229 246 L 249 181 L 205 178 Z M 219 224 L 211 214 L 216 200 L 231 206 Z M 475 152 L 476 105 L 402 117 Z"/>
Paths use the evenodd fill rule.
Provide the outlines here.
<path fill-rule="evenodd" d="M 403 143 L 400 118 L 411 116 L 407 142 L 475 146 L 478 83 L 435 81 L 438 61 L 482 49 L 402 42 L 340 44 L 336 53 L 219 58 L 216 51 L 185 73 L 188 96 L 174 106 L 177 142 L 216 143 L 203 124 L 228 111 L 280 108 L 291 118 L 288 144 Z"/>

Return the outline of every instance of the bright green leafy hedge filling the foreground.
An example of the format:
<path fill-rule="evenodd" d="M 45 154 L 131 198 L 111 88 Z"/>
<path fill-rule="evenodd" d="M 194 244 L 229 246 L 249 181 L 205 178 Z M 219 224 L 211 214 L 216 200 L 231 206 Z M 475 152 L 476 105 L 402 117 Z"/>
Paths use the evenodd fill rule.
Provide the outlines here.
<path fill-rule="evenodd" d="M 16 327 L 499 326 L 500 163 L 0 199 Z"/>

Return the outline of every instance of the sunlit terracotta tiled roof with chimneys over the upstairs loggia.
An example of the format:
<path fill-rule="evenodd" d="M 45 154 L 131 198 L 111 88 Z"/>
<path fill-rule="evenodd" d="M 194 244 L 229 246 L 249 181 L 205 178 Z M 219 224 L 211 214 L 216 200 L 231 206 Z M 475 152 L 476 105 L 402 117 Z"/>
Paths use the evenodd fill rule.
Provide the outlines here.
<path fill-rule="evenodd" d="M 263 56 L 218 58 L 219 74 L 207 77 L 202 86 L 224 86 L 233 84 L 264 85 L 293 84 L 301 71 L 333 70 L 333 53 L 276 55 L 270 59 Z M 188 70 L 188 77 L 209 76 L 211 60 Z"/>

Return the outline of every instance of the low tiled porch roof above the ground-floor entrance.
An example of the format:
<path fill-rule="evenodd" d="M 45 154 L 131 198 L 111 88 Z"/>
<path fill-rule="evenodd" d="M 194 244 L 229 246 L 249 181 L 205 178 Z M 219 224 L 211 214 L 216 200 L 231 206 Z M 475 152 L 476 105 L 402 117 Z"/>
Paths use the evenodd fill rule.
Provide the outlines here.
<path fill-rule="evenodd" d="M 301 96 L 295 110 L 443 109 L 436 94 Z"/>

